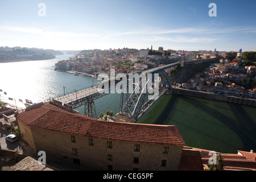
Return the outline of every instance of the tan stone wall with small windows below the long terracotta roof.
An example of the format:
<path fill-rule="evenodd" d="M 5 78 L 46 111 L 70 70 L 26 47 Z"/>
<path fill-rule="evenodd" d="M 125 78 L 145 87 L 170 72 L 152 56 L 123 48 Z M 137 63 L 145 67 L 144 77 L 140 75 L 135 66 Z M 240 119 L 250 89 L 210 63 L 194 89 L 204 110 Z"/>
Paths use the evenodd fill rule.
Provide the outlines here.
<path fill-rule="evenodd" d="M 113 171 L 132 171 L 134 168 L 155 171 L 178 170 L 183 149 L 183 146 L 168 146 L 168 154 L 163 154 L 164 145 L 121 140 L 112 141 L 112 148 L 108 148 L 106 139 L 93 136 L 91 146 L 89 137 L 86 136 L 76 135 L 76 142 L 72 142 L 71 134 L 24 125 L 20 127 L 20 132 L 23 139 L 30 143 L 36 152 L 42 150 L 46 152 L 46 157 L 49 155 L 66 162 L 79 162 L 81 166 L 94 170 L 108 170 L 110 166 Z M 134 151 L 134 144 L 140 144 L 139 151 Z M 108 155 L 112 155 L 112 160 L 108 160 Z M 134 158 L 139 158 L 138 164 L 134 164 Z M 161 167 L 162 160 L 167 160 L 166 167 Z"/>

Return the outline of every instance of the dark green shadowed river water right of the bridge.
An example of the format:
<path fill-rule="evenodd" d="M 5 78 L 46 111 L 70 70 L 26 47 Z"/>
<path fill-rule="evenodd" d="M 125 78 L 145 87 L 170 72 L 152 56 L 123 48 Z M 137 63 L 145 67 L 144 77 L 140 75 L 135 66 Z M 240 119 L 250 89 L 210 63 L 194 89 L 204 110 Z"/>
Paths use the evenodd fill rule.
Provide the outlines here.
<path fill-rule="evenodd" d="M 232 154 L 256 150 L 256 107 L 169 94 L 138 122 L 176 125 L 189 147 Z"/>

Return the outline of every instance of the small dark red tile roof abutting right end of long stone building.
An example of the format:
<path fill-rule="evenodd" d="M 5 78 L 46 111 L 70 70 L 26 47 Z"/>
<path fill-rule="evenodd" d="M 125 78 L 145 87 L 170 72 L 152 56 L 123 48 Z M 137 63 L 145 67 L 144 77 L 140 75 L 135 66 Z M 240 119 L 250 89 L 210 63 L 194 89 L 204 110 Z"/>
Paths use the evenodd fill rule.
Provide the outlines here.
<path fill-rule="evenodd" d="M 183 148 L 180 158 L 180 171 L 203 171 L 203 163 L 199 151 Z"/>

